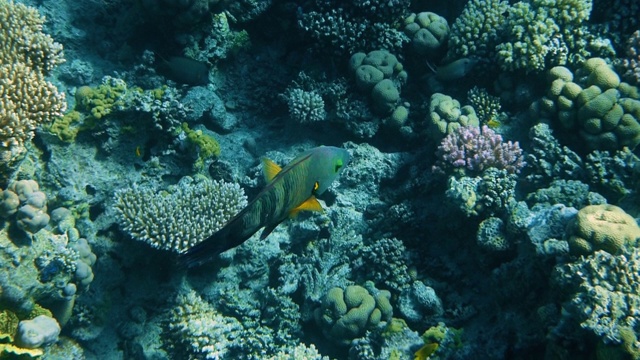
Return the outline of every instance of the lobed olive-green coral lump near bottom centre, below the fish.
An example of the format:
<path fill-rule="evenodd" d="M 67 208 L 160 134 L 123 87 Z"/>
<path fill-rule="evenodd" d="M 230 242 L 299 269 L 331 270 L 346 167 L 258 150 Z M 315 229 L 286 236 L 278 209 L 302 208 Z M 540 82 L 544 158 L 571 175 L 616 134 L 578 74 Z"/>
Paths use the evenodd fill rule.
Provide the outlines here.
<path fill-rule="evenodd" d="M 327 292 L 322 306 L 316 309 L 315 319 L 325 336 L 341 345 L 349 345 L 380 321 L 391 320 L 390 297 L 388 291 L 373 295 L 359 285 L 347 286 L 344 290 L 335 287 Z"/>

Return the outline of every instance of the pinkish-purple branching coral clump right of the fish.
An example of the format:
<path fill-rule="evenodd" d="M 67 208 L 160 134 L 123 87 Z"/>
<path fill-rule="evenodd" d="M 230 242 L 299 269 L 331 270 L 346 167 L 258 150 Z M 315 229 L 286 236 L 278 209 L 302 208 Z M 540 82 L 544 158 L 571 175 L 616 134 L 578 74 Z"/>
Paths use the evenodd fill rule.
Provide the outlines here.
<path fill-rule="evenodd" d="M 488 126 L 461 126 L 447 135 L 438 146 L 435 171 L 462 168 L 481 172 L 494 167 L 518 173 L 525 165 L 518 142 L 503 142 L 502 136 Z"/>

